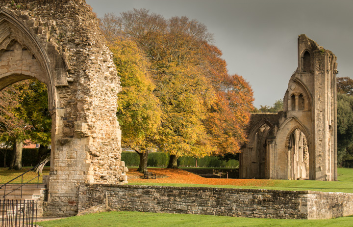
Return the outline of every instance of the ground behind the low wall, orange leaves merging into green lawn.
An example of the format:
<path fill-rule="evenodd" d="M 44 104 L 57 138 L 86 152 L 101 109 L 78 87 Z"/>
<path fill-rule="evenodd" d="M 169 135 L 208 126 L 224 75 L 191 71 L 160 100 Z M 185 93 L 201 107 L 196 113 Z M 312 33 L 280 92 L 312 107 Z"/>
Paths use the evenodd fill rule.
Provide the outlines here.
<path fill-rule="evenodd" d="M 155 173 L 157 179 L 142 179 L 143 174 L 136 170 L 130 168 L 127 172 L 128 184 L 353 193 L 353 169 L 348 168 L 338 168 L 338 181 L 204 178 L 185 170 L 155 168 L 149 171 Z"/>

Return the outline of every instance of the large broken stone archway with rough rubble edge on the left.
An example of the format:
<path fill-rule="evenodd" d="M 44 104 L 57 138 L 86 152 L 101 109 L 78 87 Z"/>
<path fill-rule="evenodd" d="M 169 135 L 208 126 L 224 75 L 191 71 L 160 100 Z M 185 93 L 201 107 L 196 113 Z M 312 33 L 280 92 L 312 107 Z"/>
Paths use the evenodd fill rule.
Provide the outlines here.
<path fill-rule="evenodd" d="M 0 0 L 0 89 L 48 87 L 52 149 L 47 215 L 77 213 L 82 183 L 127 182 L 112 55 L 84 0 Z"/>

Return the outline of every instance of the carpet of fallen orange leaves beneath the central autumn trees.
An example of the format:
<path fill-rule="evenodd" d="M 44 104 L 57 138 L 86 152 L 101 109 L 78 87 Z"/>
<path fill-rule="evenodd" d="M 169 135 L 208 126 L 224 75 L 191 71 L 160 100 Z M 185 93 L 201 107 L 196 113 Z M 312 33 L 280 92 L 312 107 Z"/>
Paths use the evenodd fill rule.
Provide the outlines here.
<path fill-rule="evenodd" d="M 273 186 L 273 180 L 260 179 L 220 179 L 205 178 L 194 173 L 180 169 L 150 169 L 157 175 L 156 179 L 142 179 L 143 173 L 137 169 L 129 169 L 127 172 L 129 183 L 175 183 L 175 184 L 209 184 L 209 185 L 239 185 L 239 186 Z"/>

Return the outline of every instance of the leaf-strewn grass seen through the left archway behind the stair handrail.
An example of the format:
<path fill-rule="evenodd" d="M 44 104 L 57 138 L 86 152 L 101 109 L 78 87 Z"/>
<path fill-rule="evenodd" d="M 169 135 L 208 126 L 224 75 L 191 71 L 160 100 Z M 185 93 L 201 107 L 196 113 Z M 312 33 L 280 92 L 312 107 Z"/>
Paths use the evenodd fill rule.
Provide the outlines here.
<path fill-rule="evenodd" d="M 32 167 L 23 167 L 22 170 L 7 170 L 8 168 L 1 167 L 0 168 L 0 184 L 4 184 L 4 183 L 12 180 L 13 178 L 21 175 L 22 173 L 24 173 L 25 171 L 27 171 L 31 168 Z M 50 170 L 50 167 L 44 167 L 43 174 L 48 175 L 49 170 Z M 43 182 L 42 175 L 39 176 L 39 183 Z M 35 173 L 33 171 L 29 171 L 23 176 L 23 182 L 27 182 L 27 181 L 33 179 L 35 176 L 37 176 L 37 173 Z M 16 180 L 12 181 L 11 183 L 21 183 L 21 177 L 17 178 Z M 30 181 L 30 183 L 37 183 L 37 179 Z"/>

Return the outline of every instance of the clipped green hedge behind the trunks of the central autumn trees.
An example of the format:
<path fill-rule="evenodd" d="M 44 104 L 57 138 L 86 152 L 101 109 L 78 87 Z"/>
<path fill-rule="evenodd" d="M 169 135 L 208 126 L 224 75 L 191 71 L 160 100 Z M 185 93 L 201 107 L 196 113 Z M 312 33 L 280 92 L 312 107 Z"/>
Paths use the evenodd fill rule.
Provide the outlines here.
<path fill-rule="evenodd" d="M 123 151 L 122 161 L 125 161 L 125 166 L 138 166 L 140 163 L 139 155 L 136 152 Z M 147 165 L 150 167 L 168 166 L 169 154 L 163 152 L 152 152 L 149 154 Z M 238 160 L 221 160 L 215 156 L 205 156 L 197 159 L 199 167 L 227 167 L 235 168 L 239 166 Z M 194 157 L 180 157 L 177 159 L 177 164 L 180 167 L 194 167 L 196 166 L 196 158 Z"/>

